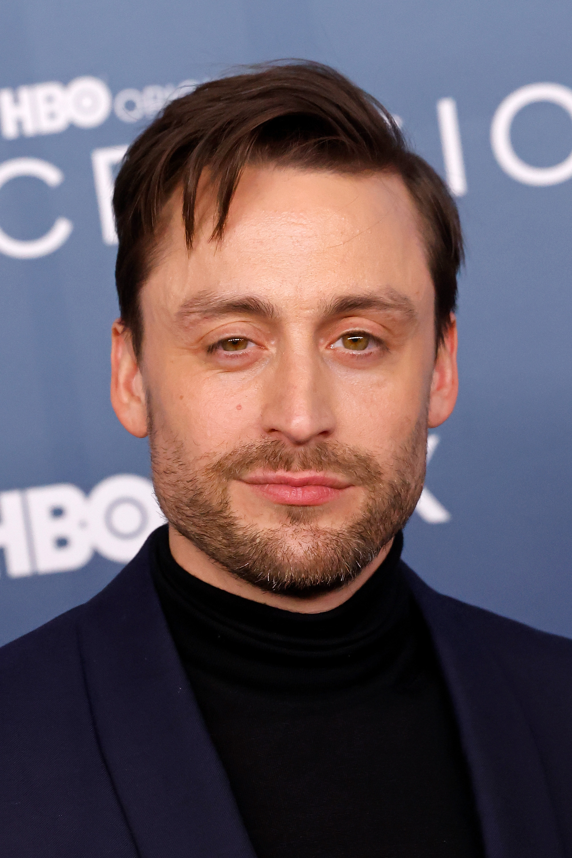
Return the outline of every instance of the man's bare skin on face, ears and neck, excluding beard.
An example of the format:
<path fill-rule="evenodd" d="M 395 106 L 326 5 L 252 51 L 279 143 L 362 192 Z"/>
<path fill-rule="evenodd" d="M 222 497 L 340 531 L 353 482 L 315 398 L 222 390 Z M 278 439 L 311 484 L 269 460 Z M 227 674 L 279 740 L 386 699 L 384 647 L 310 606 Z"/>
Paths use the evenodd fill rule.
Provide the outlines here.
<path fill-rule="evenodd" d="M 316 450 L 352 450 L 391 478 L 409 444 L 418 496 L 427 427 L 455 406 L 457 337 L 451 317 L 436 357 L 434 287 L 400 178 L 252 166 L 220 245 L 210 239 L 213 214 L 205 178 L 189 252 L 173 196 L 141 290 L 139 360 L 129 331 L 119 320 L 112 329 L 111 402 L 138 438 L 152 416 L 163 482 L 170 469 L 161 451 L 176 446 L 195 469 L 244 445 L 272 442 L 303 466 Z M 227 497 L 242 526 L 280 528 L 301 558 L 299 522 L 311 521 L 314 534 L 343 529 L 367 492 L 334 465 L 326 473 L 293 469 L 241 472 L 227 482 Z M 291 595 L 237 577 L 172 526 L 169 538 L 173 557 L 196 577 L 305 613 L 346 601 L 391 545 L 347 583 Z"/>

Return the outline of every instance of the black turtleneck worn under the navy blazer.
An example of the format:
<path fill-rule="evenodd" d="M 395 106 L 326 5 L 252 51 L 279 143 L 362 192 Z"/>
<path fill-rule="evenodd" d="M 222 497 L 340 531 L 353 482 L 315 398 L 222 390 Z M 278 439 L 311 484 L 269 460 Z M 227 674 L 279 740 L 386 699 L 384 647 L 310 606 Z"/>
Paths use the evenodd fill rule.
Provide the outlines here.
<path fill-rule="evenodd" d="M 157 532 L 155 587 L 258 858 L 484 855 L 402 545 L 307 614 L 200 581 Z"/>

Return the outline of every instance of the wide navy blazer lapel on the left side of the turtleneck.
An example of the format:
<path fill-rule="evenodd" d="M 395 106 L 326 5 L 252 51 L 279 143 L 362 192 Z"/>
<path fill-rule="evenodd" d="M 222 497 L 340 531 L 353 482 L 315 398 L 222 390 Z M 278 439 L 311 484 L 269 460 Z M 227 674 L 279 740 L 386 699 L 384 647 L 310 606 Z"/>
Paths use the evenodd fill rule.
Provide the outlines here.
<path fill-rule="evenodd" d="M 99 744 L 141 858 L 255 858 L 149 571 L 148 543 L 86 606 Z"/>

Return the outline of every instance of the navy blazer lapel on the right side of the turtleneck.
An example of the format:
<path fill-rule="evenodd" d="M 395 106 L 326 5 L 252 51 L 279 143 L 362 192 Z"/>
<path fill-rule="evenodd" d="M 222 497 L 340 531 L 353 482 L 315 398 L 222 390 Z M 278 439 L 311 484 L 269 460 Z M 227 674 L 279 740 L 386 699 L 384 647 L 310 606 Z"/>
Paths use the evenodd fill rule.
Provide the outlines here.
<path fill-rule="evenodd" d="M 563 858 L 533 734 L 478 612 L 406 567 L 449 687 L 473 780 L 487 858 Z"/>

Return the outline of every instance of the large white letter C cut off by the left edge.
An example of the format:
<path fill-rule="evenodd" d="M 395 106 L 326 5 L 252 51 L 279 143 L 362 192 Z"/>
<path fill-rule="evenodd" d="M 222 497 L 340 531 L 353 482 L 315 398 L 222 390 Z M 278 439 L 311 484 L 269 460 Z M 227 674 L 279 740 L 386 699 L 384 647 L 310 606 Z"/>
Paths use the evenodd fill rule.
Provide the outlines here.
<path fill-rule="evenodd" d="M 39 158 L 13 158 L 0 164 L 0 188 L 12 178 L 39 178 L 50 188 L 57 188 L 63 182 L 63 172 L 49 161 Z M 14 259 L 37 259 L 57 251 L 74 228 L 71 221 L 58 217 L 51 229 L 39 239 L 13 239 L 0 228 L 0 253 Z"/>

